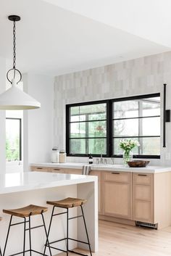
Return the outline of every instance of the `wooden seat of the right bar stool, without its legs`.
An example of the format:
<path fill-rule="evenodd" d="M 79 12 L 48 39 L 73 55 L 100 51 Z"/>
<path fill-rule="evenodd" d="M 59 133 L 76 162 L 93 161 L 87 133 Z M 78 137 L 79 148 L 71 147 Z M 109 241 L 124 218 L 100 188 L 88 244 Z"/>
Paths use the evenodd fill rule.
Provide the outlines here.
<path fill-rule="evenodd" d="M 87 199 L 67 197 L 59 201 L 47 201 L 46 203 L 48 205 L 54 205 L 56 207 L 72 208 L 72 207 L 78 207 L 80 205 L 84 205 L 86 202 L 87 202 Z"/>

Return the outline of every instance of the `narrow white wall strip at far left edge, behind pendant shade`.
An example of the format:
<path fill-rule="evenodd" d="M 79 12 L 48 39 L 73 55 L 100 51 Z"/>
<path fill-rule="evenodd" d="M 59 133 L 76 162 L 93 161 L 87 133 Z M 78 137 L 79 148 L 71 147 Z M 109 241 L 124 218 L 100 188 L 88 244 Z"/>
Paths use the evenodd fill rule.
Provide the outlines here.
<path fill-rule="evenodd" d="M 6 61 L 0 57 L 0 94 L 6 90 Z M 5 111 L 0 110 L 0 173 L 6 170 Z"/>

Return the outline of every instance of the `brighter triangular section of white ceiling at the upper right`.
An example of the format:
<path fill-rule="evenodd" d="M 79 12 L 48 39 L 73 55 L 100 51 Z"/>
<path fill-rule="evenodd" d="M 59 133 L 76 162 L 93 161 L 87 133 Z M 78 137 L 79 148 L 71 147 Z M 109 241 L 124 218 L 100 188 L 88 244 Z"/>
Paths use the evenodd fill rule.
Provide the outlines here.
<path fill-rule="evenodd" d="M 171 47 L 170 0 L 44 0 Z"/>

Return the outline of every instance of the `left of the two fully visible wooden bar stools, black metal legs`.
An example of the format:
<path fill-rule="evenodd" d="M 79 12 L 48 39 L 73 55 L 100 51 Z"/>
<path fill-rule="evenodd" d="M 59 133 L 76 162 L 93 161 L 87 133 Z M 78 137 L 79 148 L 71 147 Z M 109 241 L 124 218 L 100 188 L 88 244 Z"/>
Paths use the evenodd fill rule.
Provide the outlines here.
<path fill-rule="evenodd" d="M 45 221 L 44 221 L 44 217 L 43 217 L 43 212 L 46 212 L 47 210 L 48 210 L 47 207 L 41 207 L 41 206 L 38 206 L 38 205 L 28 205 L 26 207 L 22 207 L 22 208 L 19 208 L 19 209 L 3 210 L 4 213 L 7 213 L 7 214 L 11 215 L 11 218 L 9 220 L 9 228 L 8 228 L 8 232 L 7 232 L 7 239 L 5 241 L 3 256 L 5 255 L 5 251 L 6 251 L 6 248 L 7 248 L 7 241 L 8 241 L 8 238 L 9 238 L 10 228 L 12 226 L 16 226 L 16 225 L 20 225 L 20 224 L 24 224 L 23 251 L 22 252 L 17 252 L 14 255 L 23 254 L 23 256 L 24 256 L 25 252 L 30 252 L 30 256 L 31 256 L 31 252 L 36 252 L 40 255 L 43 255 L 43 253 L 37 252 L 35 249 L 32 249 L 32 247 L 31 247 L 31 229 L 43 227 L 44 231 L 45 231 L 45 234 L 46 234 L 46 243 L 49 244 L 47 231 L 46 231 L 46 226 L 45 226 Z M 33 215 L 41 215 L 43 224 L 40 225 L 40 226 L 31 227 L 30 217 L 33 216 Z M 12 224 L 13 216 L 23 218 L 24 221 Z M 28 220 L 27 220 L 27 218 L 28 218 Z M 28 228 L 26 228 L 26 223 L 28 223 Z M 26 231 L 29 231 L 29 244 L 30 244 L 30 248 L 27 249 L 27 250 L 25 250 L 25 233 L 26 233 Z M 51 255 L 50 247 L 49 247 L 49 252 L 50 252 L 50 255 Z M 10 255 L 10 256 L 14 256 L 14 255 Z"/>

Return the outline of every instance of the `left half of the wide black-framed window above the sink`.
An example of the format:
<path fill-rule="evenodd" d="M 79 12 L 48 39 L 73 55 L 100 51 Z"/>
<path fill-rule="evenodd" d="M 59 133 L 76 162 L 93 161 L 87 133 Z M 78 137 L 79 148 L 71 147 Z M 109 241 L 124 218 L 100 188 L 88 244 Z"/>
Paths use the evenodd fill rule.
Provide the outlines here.
<path fill-rule="evenodd" d="M 107 103 L 67 107 L 67 137 L 71 155 L 107 155 Z"/>

